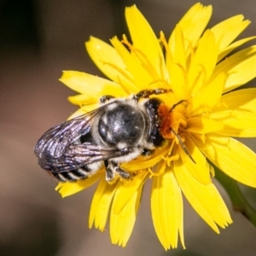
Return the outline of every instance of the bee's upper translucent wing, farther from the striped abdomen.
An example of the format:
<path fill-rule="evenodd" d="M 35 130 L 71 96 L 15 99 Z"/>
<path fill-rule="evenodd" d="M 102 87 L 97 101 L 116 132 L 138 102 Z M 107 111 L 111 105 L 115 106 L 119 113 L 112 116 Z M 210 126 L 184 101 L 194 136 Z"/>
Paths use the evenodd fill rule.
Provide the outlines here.
<path fill-rule="evenodd" d="M 46 131 L 38 140 L 34 153 L 38 158 L 59 158 L 66 151 L 68 145 L 78 137 L 90 131 L 90 120 L 104 110 L 104 106 L 56 125 Z"/>

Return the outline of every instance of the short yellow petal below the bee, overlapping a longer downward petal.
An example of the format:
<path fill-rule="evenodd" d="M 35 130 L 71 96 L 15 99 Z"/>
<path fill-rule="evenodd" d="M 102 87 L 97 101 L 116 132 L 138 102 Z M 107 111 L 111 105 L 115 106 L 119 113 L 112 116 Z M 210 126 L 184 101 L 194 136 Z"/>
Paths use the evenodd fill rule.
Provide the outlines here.
<path fill-rule="evenodd" d="M 131 181 L 125 181 L 124 183 L 119 182 L 114 195 L 115 201 L 112 207 L 114 214 L 119 214 L 122 211 L 136 191 L 143 186 L 147 176 L 148 172 L 143 172 L 138 174 L 136 177 L 133 177 Z"/>

